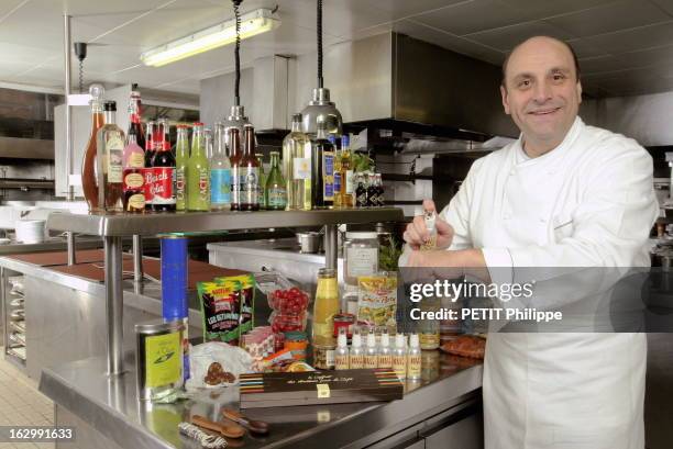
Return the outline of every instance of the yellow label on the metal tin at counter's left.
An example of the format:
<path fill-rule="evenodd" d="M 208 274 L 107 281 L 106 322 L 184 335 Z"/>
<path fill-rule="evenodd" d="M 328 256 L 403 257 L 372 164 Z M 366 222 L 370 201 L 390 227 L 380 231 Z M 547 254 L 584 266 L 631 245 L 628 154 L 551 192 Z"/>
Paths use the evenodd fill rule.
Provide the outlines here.
<path fill-rule="evenodd" d="M 180 333 L 145 337 L 145 386 L 151 389 L 179 382 L 183 378 Z"/>

